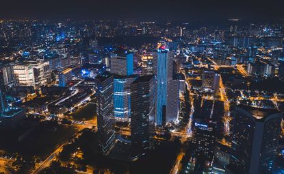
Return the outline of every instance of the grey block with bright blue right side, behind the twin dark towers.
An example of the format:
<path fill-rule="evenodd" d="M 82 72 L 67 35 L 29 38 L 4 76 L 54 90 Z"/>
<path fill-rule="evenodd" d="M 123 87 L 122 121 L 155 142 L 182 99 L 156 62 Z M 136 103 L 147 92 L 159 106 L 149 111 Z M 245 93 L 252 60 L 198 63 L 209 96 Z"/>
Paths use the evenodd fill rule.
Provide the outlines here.
<path fill-rule="evenodd" d="M 117 75 L 133 75 L 133 53 L 112 56 L 110 70 Z"/>

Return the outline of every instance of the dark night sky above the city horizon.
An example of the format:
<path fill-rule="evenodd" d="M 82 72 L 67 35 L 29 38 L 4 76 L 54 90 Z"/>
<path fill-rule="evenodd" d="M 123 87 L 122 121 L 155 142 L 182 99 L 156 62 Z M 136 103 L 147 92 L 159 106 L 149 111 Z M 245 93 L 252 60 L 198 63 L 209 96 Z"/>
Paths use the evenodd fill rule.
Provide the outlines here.
<path fill-rule="evenodd" d="M 109 18 L 138 20 L 272 21 L 284 18 L 284 1 L 251 0 L 1 0 L 1 18 Z"/>

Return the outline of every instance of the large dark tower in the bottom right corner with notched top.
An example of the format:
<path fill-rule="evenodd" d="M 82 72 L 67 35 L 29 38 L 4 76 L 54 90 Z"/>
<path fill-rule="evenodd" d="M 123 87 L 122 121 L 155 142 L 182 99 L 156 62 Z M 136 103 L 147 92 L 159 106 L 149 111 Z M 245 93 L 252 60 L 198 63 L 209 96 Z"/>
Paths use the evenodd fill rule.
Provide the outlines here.
<path fill-rule="evenodd" d="M 281 130 L 276 109 L 235 108 L 230 169 L 237 173 L 272 173 Z"/>

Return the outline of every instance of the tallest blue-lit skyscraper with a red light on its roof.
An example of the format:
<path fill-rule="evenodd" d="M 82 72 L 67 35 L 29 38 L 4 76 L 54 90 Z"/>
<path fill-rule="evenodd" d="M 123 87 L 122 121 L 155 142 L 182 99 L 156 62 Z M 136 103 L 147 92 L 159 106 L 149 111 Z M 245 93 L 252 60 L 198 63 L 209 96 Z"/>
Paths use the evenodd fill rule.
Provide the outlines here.
<path fill-rule="evenodd" d="M 179 98 L 176 99 L 176 92 L 179 93 L 177 83 L 172 82 L 172 64 L 173 53 L 162 46 L 157 52 L 153 53 L 153 73 L 156 79 L 156 121 L 159 126 L 166 125 L 167 122 L 177 118 L 178 112 L 170 111 L 169 107 L 176 105 Z M 173 97 L 168 97 L 172 95 Z M 177 95 L 179 96 L 179 95 Z M 168 110 L 168 111 L 167 111 Z M 170 114 L 170 115 L 167 115 Z M 169 120 L 166 120 L 169 119 Z"/>

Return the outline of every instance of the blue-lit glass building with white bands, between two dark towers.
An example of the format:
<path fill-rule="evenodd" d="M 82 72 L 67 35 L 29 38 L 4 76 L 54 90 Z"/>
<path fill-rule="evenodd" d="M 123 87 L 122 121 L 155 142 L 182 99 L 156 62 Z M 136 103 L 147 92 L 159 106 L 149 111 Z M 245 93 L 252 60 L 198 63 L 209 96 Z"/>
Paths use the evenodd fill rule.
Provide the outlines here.
<path fill-rule="evenodd" d="M 119 121 L 129 121 L 131 115 L 130 85 L 135 76 L 114 76 L 114 117 Z"/>

